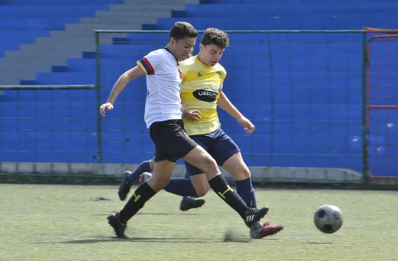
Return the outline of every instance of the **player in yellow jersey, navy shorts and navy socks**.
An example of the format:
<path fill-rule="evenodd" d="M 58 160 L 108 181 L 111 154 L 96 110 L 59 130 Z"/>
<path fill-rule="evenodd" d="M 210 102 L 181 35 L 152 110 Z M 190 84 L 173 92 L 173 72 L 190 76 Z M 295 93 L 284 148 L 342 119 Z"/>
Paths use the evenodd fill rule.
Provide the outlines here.
<path fill-rule="evenodd" d="M 228 43 L 225 32 L 208 28 L 200 40 L 199 54 L 180 63 L 183 75 L 181 89 L 183 108 L 189 113 L 198 111 L 196 120 L 184 120 L 184 127 L 190 138 L 233 176 L 236 180 L 237 193 L 246 204 L 256 206 L 250 171 L 243 161 L 238 146 L 220 128 L 217 116 L 218 105 L 234 117 L 246 133 L 251 134 L 255 130 L 253 123 L 243 116 L 223 92 L 226 71 L 218 62 Z M 185 166 L 197 195 L 203 196 L 209 189 L 205 175 L 188 162 L 185 162 Z M 166 190 L 171 191 L 170 186 Z M 250 227 L 250 235 L 252 238 L 263 238 L 282 229 L 282 225 L 257 222 Z"/>

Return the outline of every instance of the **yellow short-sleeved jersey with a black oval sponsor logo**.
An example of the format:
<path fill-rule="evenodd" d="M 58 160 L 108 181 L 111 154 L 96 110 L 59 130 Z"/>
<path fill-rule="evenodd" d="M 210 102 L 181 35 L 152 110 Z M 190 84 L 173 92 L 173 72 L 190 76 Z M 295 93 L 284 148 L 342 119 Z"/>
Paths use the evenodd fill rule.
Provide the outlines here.
<path fill-rule="evenodd" d="M 220 64 L 213 67 L 202 64 L 197 56 L 180 62 L 182 72 L 181 99 L 186 109 L 198 109 L 199 121 L 184 120 L 189 136 L 207 134 L 221 125 L 217 114 L 217 99 L 226 77 L 226 71 Z"/>

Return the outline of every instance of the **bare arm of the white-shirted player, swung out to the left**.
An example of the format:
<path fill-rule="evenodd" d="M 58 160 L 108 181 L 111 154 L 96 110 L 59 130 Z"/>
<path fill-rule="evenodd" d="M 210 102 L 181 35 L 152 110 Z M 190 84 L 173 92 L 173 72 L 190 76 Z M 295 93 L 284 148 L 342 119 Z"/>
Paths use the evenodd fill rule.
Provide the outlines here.
<path fill-rule="evenodd" d="M 112 110 L 113 109 L 113 104 L 119 96 L 120 92 L 126 87 L 126 85 L 134 80 L 135 78 L 138 78 L 140 76 L 144 75 L 144 71 L 141 69 L 139 66 L 135 66 L 134 68 L 128 70 L 124 74 L 122 74 L 119 79 L 117 79 L 115 85 L 113 86 L 112 90 L 110 91 L 109 97 L 106 100 L 106 103 L 102 104 L 100 106 L 100 114 L 105 117 L 105 110 Z"/>

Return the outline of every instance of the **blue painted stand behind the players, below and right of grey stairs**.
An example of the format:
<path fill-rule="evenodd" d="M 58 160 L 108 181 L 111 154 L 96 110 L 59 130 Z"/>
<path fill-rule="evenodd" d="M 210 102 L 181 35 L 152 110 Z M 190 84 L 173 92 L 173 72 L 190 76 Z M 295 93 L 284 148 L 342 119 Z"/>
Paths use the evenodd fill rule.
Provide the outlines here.
<path fill-rule="evenodd" d="M 143 28 L 168 30 L 177 20 L 189 21 L 197 29 L 389 28 L 395 25 L 398 10 L 398 3 L 387 0 L 333 5 L 326 0 L 296 0 L 288 5 L 279 1 L 207 2 L 188 5 L 186 11 L 174 12 L 175 17 L 159 18 L 156 26 Z M 244 134 L 229 115 L 220 111 L 219 116 L 247 164 L 361 172 L 362 35 L 230 33 L 229 37 L 230 46 L 221 60 L 227 71 L 224 92 L 253 121 L 256 131 Z M 166 34 L 129 34 L 115 38 L 113 45 L 101 45 L 101 102 L 122 72 L 166 42 Z M 38 73 L 34 83 L 95 84 L 94 54 L 82 55 L 85 59 L 70 59 L 67 66 L 54 67 L 52 73 Z M 119 96 L 115 110 L 101 119 L 104 163 L 138 163 L 152 157 L 154 148 L 143 122 L 144 95 L 145 80 L 137 79 Z M 0 161 L 97 162 L 95 91 L 7 91 L 0 101 Z M 23 109 L 26 106 L 34 108 L 29 116 Z M 394 115 L 379 113 L 377 117 L 387 120 Z M 32 119 L 18 121 L 18 117 Z M 40 120 L 33 119 L 36 117 Z M 55 117 L 61 120 L 52 119 Z M 396 132 L 390 134 L 398 138 Z M 371 141 L 380 139 L 383 137 L 371 133 Z M 370 154 L 386 160 L 380 157 L 386 147 L 384 152 L 379 147 L 371 144 Z"/>

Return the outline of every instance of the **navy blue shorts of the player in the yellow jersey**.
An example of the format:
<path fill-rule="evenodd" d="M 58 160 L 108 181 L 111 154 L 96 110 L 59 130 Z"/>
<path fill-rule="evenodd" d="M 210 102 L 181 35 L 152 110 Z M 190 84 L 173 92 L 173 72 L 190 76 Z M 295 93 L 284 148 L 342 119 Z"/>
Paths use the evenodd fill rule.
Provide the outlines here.
<path fill-rule="evenodd" d="M 203 135 L 192 135 L 190 136 L 196 143 L 199 144 L 208 154 L 213 157 L 217 162 L 218 166 L 222 166 L 226 160 L 231 156 L 240 152 L 238 145 L 222 130 L 217 129 L 208 134 Z M 198 168 L 192 166 L 188 162 L 185 162 L 185 168 L 190 176 L 203 173 Z"/>

